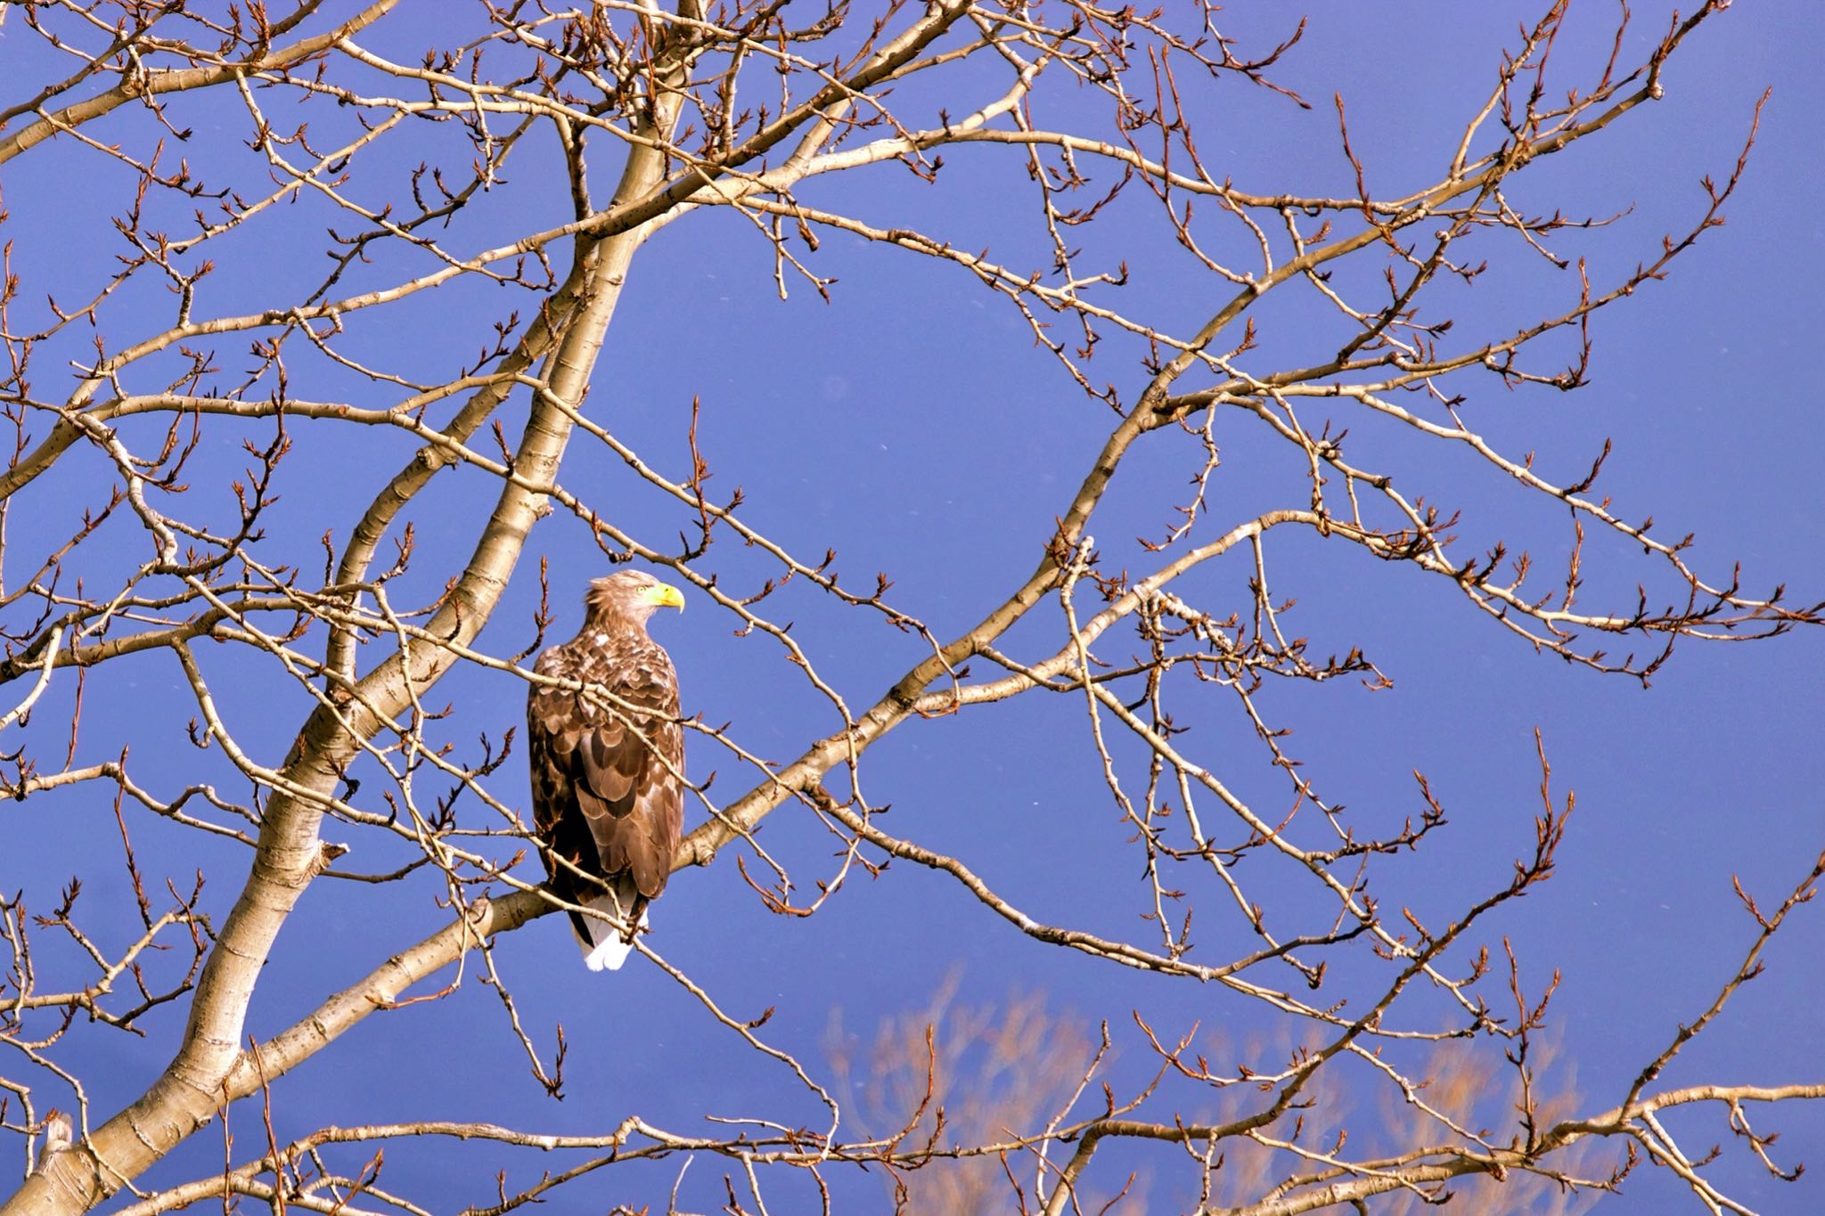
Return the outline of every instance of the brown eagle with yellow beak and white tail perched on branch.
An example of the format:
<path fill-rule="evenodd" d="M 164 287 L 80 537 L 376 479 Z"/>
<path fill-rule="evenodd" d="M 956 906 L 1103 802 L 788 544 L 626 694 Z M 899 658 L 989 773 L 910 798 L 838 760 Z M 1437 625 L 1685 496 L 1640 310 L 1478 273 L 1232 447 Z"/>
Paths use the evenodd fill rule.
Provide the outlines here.
<path fill-rule="evenodd" d="M 661 607 L 683 609 L 684 596 L 642 571 L 591 582 L 582 631 L 540 654 L 533 671 L 608 695 L 535 684 L 526 702 L 549 888 L 615 921 L 569 913 L 591 972 L 619 970 L 633 950 L 646 904 L 666 890 L 684 819 L 679 678 L 646 636 L 646 618 Z"/>

